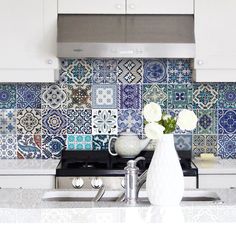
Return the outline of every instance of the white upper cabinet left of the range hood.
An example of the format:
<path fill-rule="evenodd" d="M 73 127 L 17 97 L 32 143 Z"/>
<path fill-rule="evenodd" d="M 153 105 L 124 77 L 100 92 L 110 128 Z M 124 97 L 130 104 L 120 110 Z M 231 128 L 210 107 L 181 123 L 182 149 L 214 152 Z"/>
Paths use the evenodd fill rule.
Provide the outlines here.
<path fill-rule="evenodd" d="M 53 82 L 57 0 L 0 0 L 0 82 Z"/>

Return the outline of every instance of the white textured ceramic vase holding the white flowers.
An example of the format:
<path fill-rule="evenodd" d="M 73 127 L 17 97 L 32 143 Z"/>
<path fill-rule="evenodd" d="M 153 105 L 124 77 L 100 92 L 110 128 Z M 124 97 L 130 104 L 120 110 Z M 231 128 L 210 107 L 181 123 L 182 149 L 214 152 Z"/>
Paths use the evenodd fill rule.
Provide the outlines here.
<path fill-rule="evenodd" d="M 177 206 L 181 202 L 184 177 L 173 134 L 164 134 L 157 143 L 147 173 L 146 190 L 152 205 Z"/>

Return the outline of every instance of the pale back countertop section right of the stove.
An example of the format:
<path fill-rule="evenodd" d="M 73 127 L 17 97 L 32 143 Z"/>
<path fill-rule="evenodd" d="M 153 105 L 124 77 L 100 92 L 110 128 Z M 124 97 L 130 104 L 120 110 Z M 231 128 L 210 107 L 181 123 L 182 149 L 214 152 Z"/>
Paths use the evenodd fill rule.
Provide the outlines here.
<path fill-rule="evenodd" d="M 198 174 L 236 174 L 236 159 L 217 158 L 213 161 L 193 159 Z"/>

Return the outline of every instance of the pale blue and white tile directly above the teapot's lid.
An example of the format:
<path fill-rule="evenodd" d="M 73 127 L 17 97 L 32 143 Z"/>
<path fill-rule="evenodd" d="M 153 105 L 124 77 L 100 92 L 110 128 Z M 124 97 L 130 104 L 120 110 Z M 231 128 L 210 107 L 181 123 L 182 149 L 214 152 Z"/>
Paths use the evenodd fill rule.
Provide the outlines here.
<path fill-rule="evenodd" d="M 119 110 L 118 113 L 118 132 L 124 132 L 127 129 L 141 134 L 143 130 L 143 116 L 141 110 Z"/>

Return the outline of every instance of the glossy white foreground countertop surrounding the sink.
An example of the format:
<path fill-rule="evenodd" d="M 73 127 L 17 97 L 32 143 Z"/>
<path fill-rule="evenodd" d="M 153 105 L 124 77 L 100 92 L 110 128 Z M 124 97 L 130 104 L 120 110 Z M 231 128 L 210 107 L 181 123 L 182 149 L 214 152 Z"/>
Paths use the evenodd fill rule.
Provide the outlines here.
<path fill-rule="evenodd" d="M 148 202 L 135 207 L 116 202 L 56 202 L 41 200 L 44 190 L 0 190 L 0 222 L 236 222 L 236 190 L 215 190 L 223 204 L 182 202 L 160 208 Z"/>

